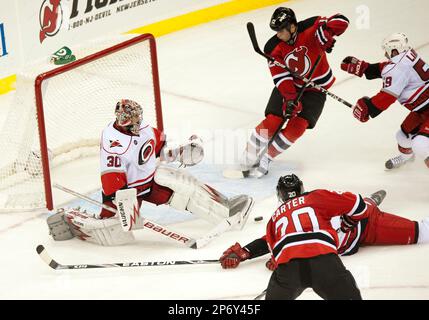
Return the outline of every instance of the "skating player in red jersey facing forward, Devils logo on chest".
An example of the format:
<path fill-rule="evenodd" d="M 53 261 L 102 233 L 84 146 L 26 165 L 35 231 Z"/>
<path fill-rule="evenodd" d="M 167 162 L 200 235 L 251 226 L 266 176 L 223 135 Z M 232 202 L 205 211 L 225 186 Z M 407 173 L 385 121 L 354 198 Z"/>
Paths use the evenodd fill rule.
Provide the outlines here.
<path fill-rule="evenodd" d="M 342 14 L 330 18 L 316 16 L 297 22 L 292 9 L 280 7 L 274 11 L 270 21 L 270 27 L 276 31 L 276 35 L 268 40 L 264 51 L 300 76 L 308 74 L 320 55 L 321 60 L 312 80 L 328 89 L 335 77 L 326 52 L 332 51 L 336 41 L 334 37 L 341 35 L 348 24 L 349 20 Z M 267 174 L 269 164 L 276 156 L 295 143 L 305 130 L 315 127 L 326 100 L 325 94 L 308 88 L 301 100 L 295 101 L 304 82 L 273 63 L 269 63 L 269 69 L 275 87 L 265 109 L 265 119 L 253 130 L 241 160 L 241 170 L 248 171 L 249 176 L 253 177 Z M 285 115 L 290 115 L 291 119 L 275 137 L 259 163 L 255 163 L 258 162 L 260 150 L 268 144 Z"/>

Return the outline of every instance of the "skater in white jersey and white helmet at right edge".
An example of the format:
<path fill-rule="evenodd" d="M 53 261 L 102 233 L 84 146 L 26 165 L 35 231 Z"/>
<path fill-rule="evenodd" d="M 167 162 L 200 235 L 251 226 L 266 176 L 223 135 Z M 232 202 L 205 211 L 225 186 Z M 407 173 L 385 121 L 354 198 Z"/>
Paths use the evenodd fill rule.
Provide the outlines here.
<path fill-rule="evenodd" d="M 386 162 L 386 169 L 398 168 L 414 160 L 415 155 L 429 168 L 429 65 L 412 49 L 403 33 L 384 39 L 382 48 L 387 62 L 370 64 L 349 56 L 341 64 L 341 69 L 350 74 L 383 79 L 381 91 L 372 98 L 359 99 L 353 115 L 366 122 L 398 101 L 410 113 L 396 134 L 400 154 Z"/>

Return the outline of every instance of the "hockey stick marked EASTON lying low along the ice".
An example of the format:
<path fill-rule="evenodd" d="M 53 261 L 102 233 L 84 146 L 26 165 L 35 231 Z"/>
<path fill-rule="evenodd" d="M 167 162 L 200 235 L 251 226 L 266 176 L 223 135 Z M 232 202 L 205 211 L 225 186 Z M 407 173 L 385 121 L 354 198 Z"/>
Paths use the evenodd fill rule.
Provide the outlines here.
<path fill-rule="evenodd" d="M 159 267 L 159 266 L 177 266 L 185 264 L 214 264 L 219 260 L 178 260 L 178 261 L 145 261 L 145 262 L 116 262 L 102 264 L 61 264 L 46 251 L 45 247 L 39 244 L 36 248 L 39 257 L 54 270 L 65 269 L 95 269 L 95 268 L 128 268 L 128 267 Z"/>

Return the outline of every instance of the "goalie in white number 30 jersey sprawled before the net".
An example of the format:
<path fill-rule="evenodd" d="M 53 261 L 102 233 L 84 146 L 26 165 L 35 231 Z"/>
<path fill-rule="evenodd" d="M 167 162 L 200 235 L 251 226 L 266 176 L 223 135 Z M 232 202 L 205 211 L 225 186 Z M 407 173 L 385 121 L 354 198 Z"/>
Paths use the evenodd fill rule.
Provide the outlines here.
<path fill-rule="evenodd" d="M 115 115 L 100 142 L 103 209 L 90 213 L 66 208 L 48 217 L 55 240 L 77 237 L 104 246 L 129 243 L 134 240 L 132 230 L 144 228 L 143 202 L 187 211 L 213 224 L 213 230 L 221 225 L 228 226 L 223 232 L 243 228 L 253 206 L 251 197 L 227 198 L 186 170 L 167 165 L 199 163 L 204 156 L 200 138 L 193 135 L 176 148 L 168 147 L 163 133 L 143 121 L 140 104 L 129 99 L 116 104 Z"/>

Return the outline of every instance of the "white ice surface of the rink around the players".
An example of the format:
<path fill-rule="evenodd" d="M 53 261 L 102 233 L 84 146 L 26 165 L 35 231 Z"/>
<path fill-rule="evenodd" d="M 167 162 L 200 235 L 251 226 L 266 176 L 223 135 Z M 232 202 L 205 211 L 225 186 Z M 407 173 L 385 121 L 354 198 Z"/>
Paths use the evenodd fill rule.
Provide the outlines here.
<path fill-rule="evenodd" d="M 349 29 L 338 38 L 328 60 L 337 77 L 331 91 L 351 103 L 377 93 L 381 82 L 341 71 L 345 56 L 381 61 L 382 39 L 404 32 L 423 59 L 429 60 L 427 1 L 392 0 L 386 5 L 378 0 L 314 0 L 284 5 L 293 8 L 298 20 L 337 12 L 350 19 Z M 396 155 L 395 133 L 407 114 L 398 103 L 362 124 L 350 109 L 328 97 L 316 128 L 279 156 L 267 177 L 229 181 L 221 176 L 219 164 L 230 157 L 230 151 L 216 143 L 217 135 L 244 131 L 247 138 L 248 130 L 262 120 L 273 87 L 266 62 L 251 47 L 246 23 L 255 24 L 262 47 L 272 36 L 268 22 L 274 9 L 251 11 L 157 39 L 166 133 L 201 135 L 206 160 L 193 168 L 193 173 L 228 195 L 248 193 L 255 197 L 244 229 L 225 233 L 199 250 L 180 247 L 144 230 L 135 232 L 133 244 L 98 247 L 77 239 L 54 242 L 48 235 L 45 213 L 0 214 L 0 299 L 252 299 L 268 283 L 267 257 L 227 271 L 220 265 L 54 271 L 42 263 L 35 248 L 44 244 L 64 264 L 217 259 L 236 241 L 245 245 L 263 235 L 277 206 L 276 181 L 292 171 L 307 190 L 326 188 L 368 195 L 385 189 L 384 211 L 412 220 L 429 216 L 429 171 L 423 162 L 384 171 L 384 162 Z M 12 95 L 0 96 L 2 115 Z M 236 152 L 243 148 L 244 141 L 238 143 Z M 96 168 L 93 174 L 98 175 Z M 79 179 L 84 184 L 85 174 L 80 173 Z M 153 218 L 192 236 L 203 235 L 209 227 L 177 213 L 169 215 L 164 209 Z M 255 216 L 265 219 L 255 222 Z M 354 274 L 364 299 L 429 299 L 428 253 L 428 245 L 365 247 L 344 257 L 343 262 Z M 306 290 L 299 299 L 319 297 Z"/>

